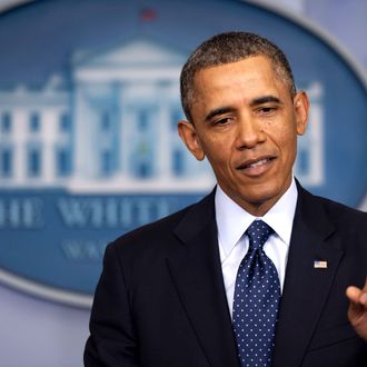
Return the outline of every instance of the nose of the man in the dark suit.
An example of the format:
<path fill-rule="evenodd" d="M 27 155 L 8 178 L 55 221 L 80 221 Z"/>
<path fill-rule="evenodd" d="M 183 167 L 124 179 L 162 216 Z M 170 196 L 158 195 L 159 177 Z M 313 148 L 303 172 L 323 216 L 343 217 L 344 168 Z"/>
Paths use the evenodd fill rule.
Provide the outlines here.
<path fill-rule="evenodd" d="M 266 133 L 264 127 L 256 118 L 249 115 L 239 118 L 237 127 L 237 149 L 251 149 L 265 140 Z"/>

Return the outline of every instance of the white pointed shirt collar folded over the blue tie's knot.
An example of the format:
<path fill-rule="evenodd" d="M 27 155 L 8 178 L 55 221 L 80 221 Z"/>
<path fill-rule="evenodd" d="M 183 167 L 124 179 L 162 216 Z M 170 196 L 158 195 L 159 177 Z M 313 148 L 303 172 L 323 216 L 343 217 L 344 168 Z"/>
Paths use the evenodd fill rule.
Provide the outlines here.
<path fill-rule="evenodd" d="M 268 224 L 287 246 L 290 242 L 297 197 L 297 186 L 295 179 L 292 179 L 288 190 L 261 217 L 261 220 Z M 228 256 L 246 229 L 258 217 L 254 217 L 244 210 L 224 192 L 219 185 L 216 190 L 215 206 L 219 242 L 226 256 Z"/>

